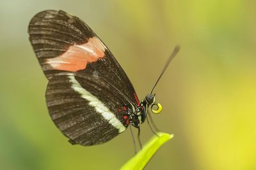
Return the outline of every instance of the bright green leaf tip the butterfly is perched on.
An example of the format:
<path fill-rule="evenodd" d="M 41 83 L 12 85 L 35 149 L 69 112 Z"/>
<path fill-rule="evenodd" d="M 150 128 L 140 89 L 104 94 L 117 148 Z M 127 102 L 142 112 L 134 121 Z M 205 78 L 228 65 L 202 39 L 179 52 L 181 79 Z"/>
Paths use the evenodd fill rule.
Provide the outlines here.
<path fill-rule="evenodd" d="M 169 141 L 173 138 L 173 134 L 166 134 L 164 132 L 157 132 L 158 136 L 152 137 L 145 146 L 143 146 L 142 150 L 138 152 L 134 157 L 132 157 L 121 170 L 131 170 L 143 169 L 148 161 L 154 156 L 154 153 L 162 146 L 166 141 Z"/>

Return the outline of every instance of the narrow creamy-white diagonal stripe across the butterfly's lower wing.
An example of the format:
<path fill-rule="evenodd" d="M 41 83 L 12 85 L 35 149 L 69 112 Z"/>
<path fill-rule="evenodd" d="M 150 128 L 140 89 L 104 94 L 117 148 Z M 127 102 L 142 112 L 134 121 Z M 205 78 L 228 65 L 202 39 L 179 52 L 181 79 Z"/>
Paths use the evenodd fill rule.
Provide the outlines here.
<path fill-rule="evenodd" d="M 120 122 L 120 120 L 118 120 L 118 118 L 116 118 L 115 114 L 109 111 L 109 109 L 104 106 L 104 104 L 99 99 L 97 99 L 97 97 L 93 96 L 86 89 L 83 89 L 83 87 L 81 87 L 81 85 L 75 79 L 73 73 L 68 74 L 68 78 L 70 82 L 72 82 L 72 89 L 81 94 L 83 99 L 89 101 L 89 105 L 95 108 L 95 111 L 100 113 L 100 115 L 102 115 L 102 117 L 107 120 L 109 124 L 118 129 L 119 133 L 125 131 L 125 126 Z"/>

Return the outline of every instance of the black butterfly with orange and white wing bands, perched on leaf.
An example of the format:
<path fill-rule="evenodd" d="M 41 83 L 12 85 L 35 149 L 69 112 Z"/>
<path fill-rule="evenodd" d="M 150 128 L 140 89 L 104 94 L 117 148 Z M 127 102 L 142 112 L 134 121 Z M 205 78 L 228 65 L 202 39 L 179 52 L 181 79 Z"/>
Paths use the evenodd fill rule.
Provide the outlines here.
<path fill-rule="evenodd" d="M 49 80 L 45 97 L 52 121 L 70 143 L 106 143 L 129 125 L 140 129 L 149 106 L 161 112 L 152 92 L 138 100 L 120 64 L 83 20 L 42 11 L 29 23 L 29 40 Z"/>

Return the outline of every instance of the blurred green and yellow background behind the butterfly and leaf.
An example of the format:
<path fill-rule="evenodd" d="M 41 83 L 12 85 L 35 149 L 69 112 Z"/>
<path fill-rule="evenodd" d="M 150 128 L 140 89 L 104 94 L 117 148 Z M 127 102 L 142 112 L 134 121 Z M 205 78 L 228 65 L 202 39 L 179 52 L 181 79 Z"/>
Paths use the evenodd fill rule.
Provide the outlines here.
<path fill-rule="evenodd" d="M 153 115 L 175 138 L 146 169 L 256 169 L 256 3 L 244 0 L 1 0 L 0 169 L 118 169 L 134 154 L 130 131 L 72 146 L 52 123 L 27 32 L 33 15 L 49 9 L 90 25 L 140 99 L 180 45 L 156 88 L 163 112 Z M 143 143 L 152 135 L 143 125 Z"/>

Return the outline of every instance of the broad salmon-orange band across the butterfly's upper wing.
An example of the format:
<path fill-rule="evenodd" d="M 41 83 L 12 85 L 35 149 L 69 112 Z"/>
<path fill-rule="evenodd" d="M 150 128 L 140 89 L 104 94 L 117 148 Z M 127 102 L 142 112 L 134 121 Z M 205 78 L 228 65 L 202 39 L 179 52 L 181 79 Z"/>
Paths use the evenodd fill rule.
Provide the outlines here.
<path fill-rule="evenodd" d="M 52 68 L 64 71 L 85 69 L 87 63 L 95 62 L 104 57 L 106 46 L 97 37 L 88 39 L 83 45 L 72 45 L 58 57 L 47 59 Z"/>

